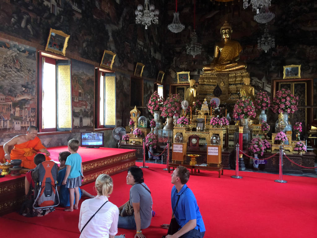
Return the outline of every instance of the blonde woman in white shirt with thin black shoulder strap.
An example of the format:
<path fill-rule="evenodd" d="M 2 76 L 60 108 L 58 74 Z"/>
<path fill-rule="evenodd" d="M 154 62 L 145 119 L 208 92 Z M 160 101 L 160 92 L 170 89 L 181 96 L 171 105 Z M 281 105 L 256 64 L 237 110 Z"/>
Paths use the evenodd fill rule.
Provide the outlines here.
<path fill-rule="evenodd" d="M 114 238 L 118 233 L 119 209 L 108 201 L 108 197 L 113 191 L 112 178 L 107 174 L 99 175 L 95 188 L 98 195 L 81 204 L 78 223 L 78 228 L 81 231 L 80 237 Z M 99 208 L 100 210 L 98 210 Z M 89 221 L 91 217 L 92 219 Z M 87 225 L 85 226 L 85 224 Z"/>

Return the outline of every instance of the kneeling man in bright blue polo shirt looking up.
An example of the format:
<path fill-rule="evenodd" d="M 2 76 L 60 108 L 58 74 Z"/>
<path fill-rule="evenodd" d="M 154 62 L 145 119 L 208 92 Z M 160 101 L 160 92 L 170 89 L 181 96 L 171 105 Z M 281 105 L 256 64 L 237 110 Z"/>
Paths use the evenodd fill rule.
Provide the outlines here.
<path fill-rule="evenodd" d="M 205 225 L 199 212 L 197 200 L 191 189 L 186 185 L 189 179 L 189 171 L 180 165 L 171 176 L 171 183 L 174 184 L 171 192 L 173 217 L 176 218 L 180 229 L 174 235 L 167 235 L 166 238 L 204 237 Z"/>

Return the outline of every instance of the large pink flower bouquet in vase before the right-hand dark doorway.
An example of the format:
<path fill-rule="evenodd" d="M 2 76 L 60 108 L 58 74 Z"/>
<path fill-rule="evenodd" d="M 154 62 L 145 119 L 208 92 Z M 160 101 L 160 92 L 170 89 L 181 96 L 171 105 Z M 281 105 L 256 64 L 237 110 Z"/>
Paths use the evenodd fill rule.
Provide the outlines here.
<path fill-rule="evenodd" d="M 298 99 L 299 97 L 295 97 L 291 94 L 290 90 L 281 89 L 277 91 L 275 97 L 273 97 L 272 111 L 294 113 L 298 110 Z"/>

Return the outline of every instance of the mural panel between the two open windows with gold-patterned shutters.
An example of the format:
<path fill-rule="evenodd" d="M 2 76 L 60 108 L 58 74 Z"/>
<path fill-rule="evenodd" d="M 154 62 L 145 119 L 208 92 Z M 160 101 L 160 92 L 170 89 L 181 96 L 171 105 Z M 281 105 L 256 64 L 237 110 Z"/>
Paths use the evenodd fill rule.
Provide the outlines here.
<path fill-rule="evenodd" d="M 72 60 L 73 129 L 94 126 L 94 65 Z"/>

